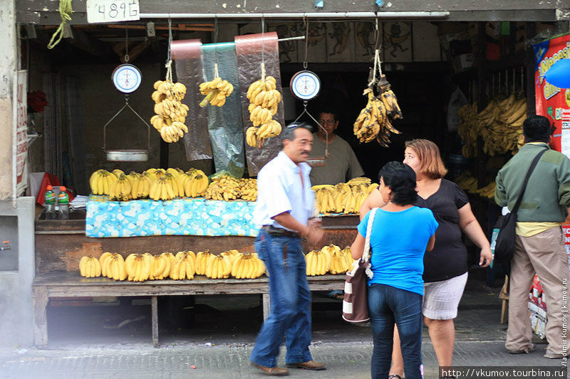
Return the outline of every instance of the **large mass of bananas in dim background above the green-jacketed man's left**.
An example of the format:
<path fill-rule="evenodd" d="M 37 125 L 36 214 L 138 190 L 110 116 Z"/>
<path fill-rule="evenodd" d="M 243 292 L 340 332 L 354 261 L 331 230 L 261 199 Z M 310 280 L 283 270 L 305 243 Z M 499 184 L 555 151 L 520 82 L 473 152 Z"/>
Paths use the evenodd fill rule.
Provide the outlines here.
<path fill-rule="evenodd" d="M 513 94 L 504 99 L 493 99 L 481 112 L 477 102 L 457 110 L 460 124 L 457 133 L 463 139 L 462 154 L 467 158 L 477 156 L 477 139 L 483 140 L 483 152 L 515 154 L 524 144 L 522 124 L 527 119 L 527 99 Z"/>

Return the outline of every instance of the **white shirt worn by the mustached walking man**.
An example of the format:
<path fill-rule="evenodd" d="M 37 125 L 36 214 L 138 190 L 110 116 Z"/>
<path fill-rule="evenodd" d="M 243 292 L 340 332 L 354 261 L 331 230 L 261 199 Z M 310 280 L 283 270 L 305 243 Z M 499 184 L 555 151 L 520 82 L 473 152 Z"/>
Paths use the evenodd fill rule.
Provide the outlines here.
<path fill-rule="evenodd" d="M 303 184 L 301 185 L 301 175 Z M 315 194 L 311 190 L 311 166 L 302 162 L 297 166 L 283 151 L 271 159 L 257 174 L 257 202 L 254 221 L 261 227 L 271 225 L 284 228 L 272 218 L 289 212 L 306 225 L 314 215 Z"/>

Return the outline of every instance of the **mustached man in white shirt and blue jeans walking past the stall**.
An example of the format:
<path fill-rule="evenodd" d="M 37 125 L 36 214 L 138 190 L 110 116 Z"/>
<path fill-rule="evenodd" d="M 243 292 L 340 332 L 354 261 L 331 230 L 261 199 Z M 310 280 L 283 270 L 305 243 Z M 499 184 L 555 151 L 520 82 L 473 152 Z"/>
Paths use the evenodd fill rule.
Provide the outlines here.
<path fill-rule="evenodd" d="M 314 215 L 314 192 L 306 164 L 313 144 L 309 125 L 291 124 L 281 139 L 283 149 L 259 171 L 254 220 L 261 225 L 255 251 L 269 272 L 271 312 L 261 326 L 249 358 L 267 375 L 289 375 L 277 367 L 279 347 L 286 337 L 288 367 L 325 370 L 313 361 L 311 291 L 306 279 L 301 237 L 322 242 L 323 230 L 309 220 Z"/>

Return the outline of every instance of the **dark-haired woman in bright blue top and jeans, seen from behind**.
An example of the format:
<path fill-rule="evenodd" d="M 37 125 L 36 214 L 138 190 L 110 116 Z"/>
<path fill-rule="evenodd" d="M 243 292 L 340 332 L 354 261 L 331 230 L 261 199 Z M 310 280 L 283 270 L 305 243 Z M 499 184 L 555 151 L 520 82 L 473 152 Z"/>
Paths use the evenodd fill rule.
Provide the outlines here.
<path fill-rule="evenodd" d="M 388 378 L 394 324 L 398 325 L 407 379 L 423 378 L 421 364 L 423 255 L 435 244 L 432 211 L 412 205 L 418 198 L 415 172 L 392 161 L 378 174 L 385 205 L 375 213 L 370 244 L 373 277 L 368 308 L 373 333 L 372 378 Z M 362 257 L 368 213 L 358 224 L 352 257 Z"/>

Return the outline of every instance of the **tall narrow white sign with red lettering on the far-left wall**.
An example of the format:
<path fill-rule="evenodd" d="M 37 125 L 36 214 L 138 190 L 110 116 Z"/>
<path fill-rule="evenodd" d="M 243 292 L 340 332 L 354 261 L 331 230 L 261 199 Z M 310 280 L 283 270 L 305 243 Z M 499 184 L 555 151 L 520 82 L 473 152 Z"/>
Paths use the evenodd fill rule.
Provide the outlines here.
<path fill-rule="evenodd" d="M 14 176 L 16 183 L 16 196 L 24 192 L 28 184 L 28 102 L 26 83 L 28 75 L 26 70 L 19 70 L 16 75 L 16 149 L 14 151 Z"/>

